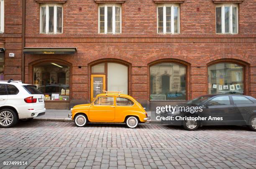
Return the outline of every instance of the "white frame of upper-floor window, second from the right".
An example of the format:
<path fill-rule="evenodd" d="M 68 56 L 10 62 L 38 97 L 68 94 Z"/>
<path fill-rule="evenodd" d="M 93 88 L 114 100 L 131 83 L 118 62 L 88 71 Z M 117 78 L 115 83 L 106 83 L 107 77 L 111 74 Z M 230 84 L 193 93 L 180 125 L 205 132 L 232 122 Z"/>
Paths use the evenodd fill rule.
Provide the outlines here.
<path fill-rule="evenodd" d="M 174 6 L 175 7 L 178 7 L 178 33 L 174 33 Z M 163 33 L 159 33 L 158 32 L 158 8 L 159 7 L 164 7 L 163 8 Z M 171 32 L 169 33 L 166 33 L 166 7 L 171 7 Z M 157 7 L 156 7 L 156 22 L 157 22 L 157 28 L 156 28 L 156 31 L 157 31 L 157 33 L 159 33 L 159 34 L 179 34 L 180 32 L 180 27 L 179 27 L 179 25 L 180 25 L 180 9 L 179 9 L 180 7 L 179 7 L 179 5 L 177 5 L 177 4 L 164 4 L 164 5 L 157 5 Z"/>

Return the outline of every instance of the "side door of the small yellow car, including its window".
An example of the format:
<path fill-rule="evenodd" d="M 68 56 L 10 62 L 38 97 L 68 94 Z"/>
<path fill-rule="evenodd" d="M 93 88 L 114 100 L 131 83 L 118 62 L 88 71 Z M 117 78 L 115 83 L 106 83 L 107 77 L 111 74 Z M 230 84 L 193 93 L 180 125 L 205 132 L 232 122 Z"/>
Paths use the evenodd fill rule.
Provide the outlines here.
<path fill-rule="evenodd" d="M 113 96 L 100 96 L 89 109 L 89 119 L 92 121 L 112 121 L 115 119 Z"/>

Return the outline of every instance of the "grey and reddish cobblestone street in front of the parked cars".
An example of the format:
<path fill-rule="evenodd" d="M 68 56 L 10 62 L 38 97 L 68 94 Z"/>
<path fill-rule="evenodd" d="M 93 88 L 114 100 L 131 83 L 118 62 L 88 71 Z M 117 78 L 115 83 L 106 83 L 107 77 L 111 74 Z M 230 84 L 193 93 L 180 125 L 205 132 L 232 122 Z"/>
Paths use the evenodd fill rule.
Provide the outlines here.
<path fill-rule="evenodd" d="M 27 161 L 4 166 L 3 161 Z M 256 133 L 243 126 L 181 127 L 31 121 L 0 129 L 5 168 L 256 168 Z"/>

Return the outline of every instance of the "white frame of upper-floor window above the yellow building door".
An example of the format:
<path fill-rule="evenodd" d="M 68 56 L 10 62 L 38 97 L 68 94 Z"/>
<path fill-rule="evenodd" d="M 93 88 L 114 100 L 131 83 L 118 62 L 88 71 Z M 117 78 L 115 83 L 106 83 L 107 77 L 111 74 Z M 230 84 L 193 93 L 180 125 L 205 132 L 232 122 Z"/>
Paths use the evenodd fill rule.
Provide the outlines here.
<path fill-rule="evenodd" d="M 104 7 L 104 33 L 100 33 L 100 7 Z M 108 33 L 108 7 L 112 7 L 112 33 Z M 120 8 L 120 33 L 115 33 L 115 7 Z M 98 7 L 98 33 L 99 34 L 121 34 L 122 33 L 122 6 L 121 5 L 99 5 Z"/>

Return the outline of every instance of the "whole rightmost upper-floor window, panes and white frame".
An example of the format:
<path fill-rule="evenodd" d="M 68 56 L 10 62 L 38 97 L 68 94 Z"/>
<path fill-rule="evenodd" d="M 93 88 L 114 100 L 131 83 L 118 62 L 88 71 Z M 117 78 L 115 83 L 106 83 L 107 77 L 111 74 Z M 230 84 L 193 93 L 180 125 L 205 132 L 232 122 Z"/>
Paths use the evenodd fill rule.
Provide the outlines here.
<path fill-rule="evenodd" d="M 236 5 L 216 7 L 216 33 L 238 33 L 238 7 Z"/>

